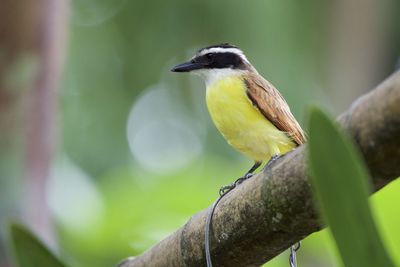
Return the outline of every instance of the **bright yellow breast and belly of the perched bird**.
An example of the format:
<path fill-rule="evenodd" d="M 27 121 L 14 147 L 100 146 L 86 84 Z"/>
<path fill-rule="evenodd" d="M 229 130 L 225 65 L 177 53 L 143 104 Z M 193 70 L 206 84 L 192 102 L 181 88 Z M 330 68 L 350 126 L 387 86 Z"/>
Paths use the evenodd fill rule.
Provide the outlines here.
<path fill-rule="evenodd" d="M 206 100 L 212 120 L 228 143 L 254 161 L 267 161 L 296 146 L 252 104 L 240 75 L 208 85 Z"/>

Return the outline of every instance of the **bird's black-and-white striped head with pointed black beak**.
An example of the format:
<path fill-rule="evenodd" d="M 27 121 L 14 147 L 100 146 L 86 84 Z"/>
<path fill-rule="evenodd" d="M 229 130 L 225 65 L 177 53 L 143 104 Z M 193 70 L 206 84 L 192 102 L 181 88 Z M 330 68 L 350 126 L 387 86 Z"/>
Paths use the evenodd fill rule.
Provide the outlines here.
<path fill-rule="evenodd" d="M 173 72 L 192 72 L 208 83 L 227 75 L 253 70 L 243 51 L 230 44 L 212 45 L 200 49 L 187 62 L 171 69 Z"/>

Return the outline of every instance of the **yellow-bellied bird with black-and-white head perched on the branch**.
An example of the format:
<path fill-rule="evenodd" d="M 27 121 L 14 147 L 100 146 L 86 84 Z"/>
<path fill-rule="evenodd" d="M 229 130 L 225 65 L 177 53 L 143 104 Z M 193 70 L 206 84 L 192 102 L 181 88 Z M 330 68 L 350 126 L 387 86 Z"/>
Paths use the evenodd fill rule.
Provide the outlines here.
<path fill-rule="evenodd" d="M 264 161 L 305 142 L 305 134 L 279 91 L 230 44 L 200 49 L 171 71 L 199 74 L 214 124 L 228 143 L 254 160 L 248 178 Z"/>

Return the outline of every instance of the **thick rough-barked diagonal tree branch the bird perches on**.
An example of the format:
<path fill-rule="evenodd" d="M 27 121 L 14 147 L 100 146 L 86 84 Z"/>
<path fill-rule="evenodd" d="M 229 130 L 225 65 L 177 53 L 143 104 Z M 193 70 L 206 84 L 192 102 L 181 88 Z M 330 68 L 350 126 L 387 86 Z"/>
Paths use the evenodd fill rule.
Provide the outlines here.
<path fill-rule="evenodd" d="M 397 72 L 357 99 L 338 118 L 358 145 L 375 191 L 400 176 L 399 103 Z M 314 207 L 305 161 L 303 145 L 221 200 L 210 237 L 215 266 L 260 266 L 323 228 Z M 197 213 L 175 233 L 119 266 L 205 266 L 204 224 L 209 209 Z"/>

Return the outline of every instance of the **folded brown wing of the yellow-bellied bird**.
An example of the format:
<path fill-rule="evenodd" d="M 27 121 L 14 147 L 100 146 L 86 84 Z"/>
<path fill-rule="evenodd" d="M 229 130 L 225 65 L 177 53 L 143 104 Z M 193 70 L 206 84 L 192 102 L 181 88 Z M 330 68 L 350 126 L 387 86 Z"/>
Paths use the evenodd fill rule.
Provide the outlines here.
<path fill-rule="evenodd" d="M 244 76 L 247 95 L 261 113 L 272 122 L 276 128 L 286 132 L 295 143 L 305 143 L 303 129 L 293 117 L 290 108 L 281 93 L 257 73 Z"/>

